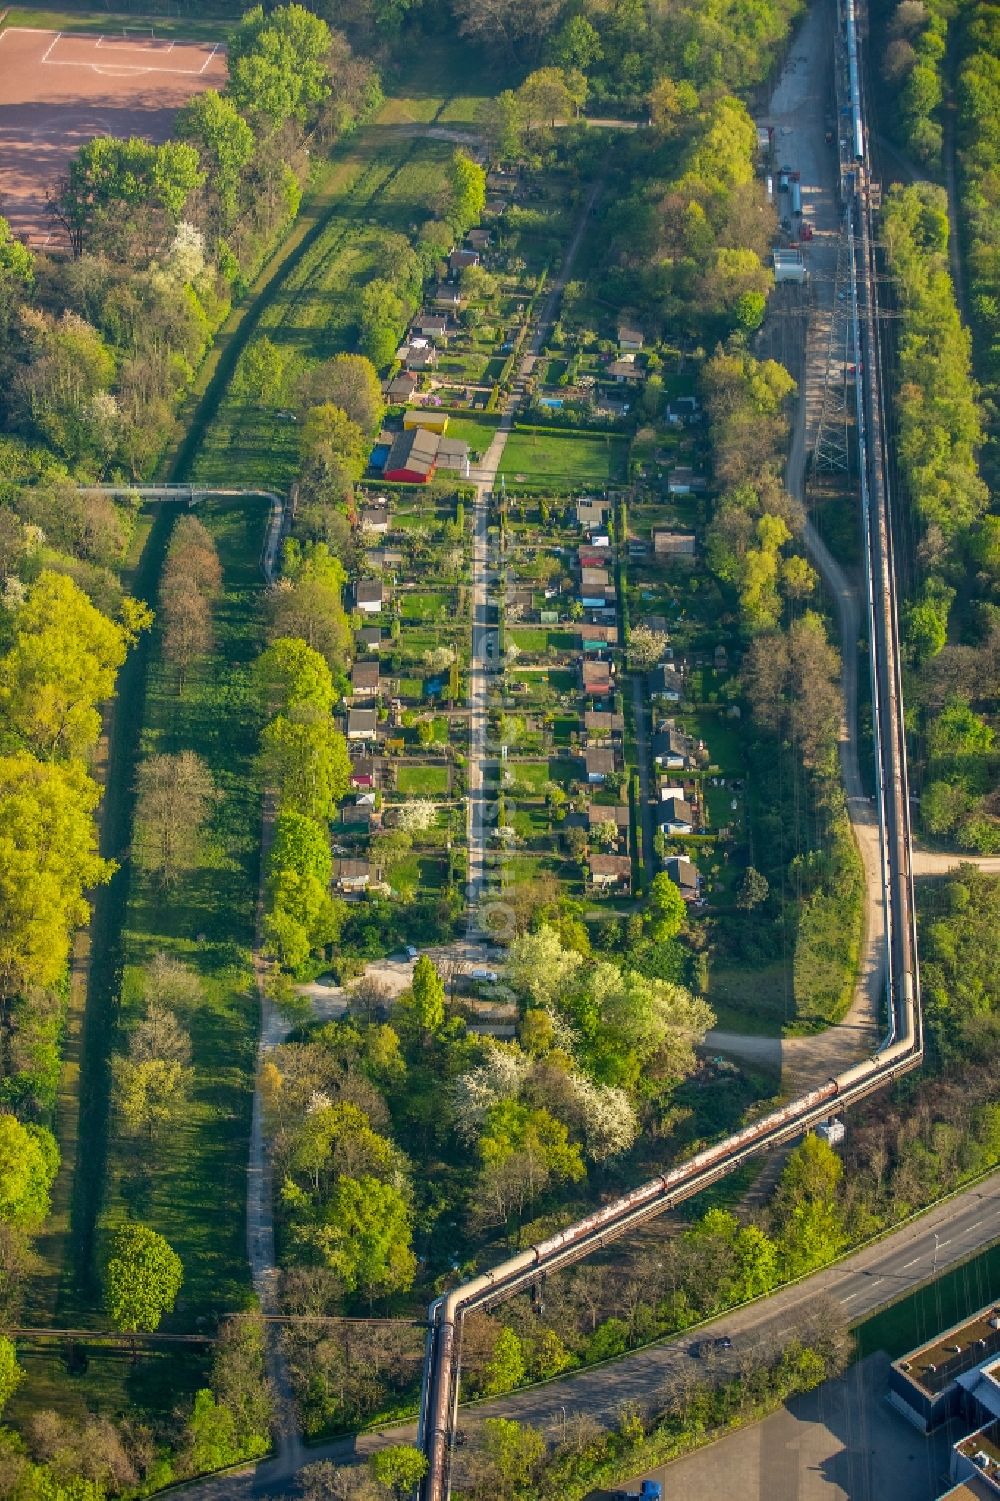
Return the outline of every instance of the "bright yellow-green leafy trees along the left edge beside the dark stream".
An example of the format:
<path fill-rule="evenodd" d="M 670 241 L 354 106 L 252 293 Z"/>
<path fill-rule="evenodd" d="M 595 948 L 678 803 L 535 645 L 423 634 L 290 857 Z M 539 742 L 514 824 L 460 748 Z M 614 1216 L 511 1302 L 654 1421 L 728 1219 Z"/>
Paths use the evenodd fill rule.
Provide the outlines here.
<path fill-rule="evenodd" d="M 0 656 L 0 1088 L 6 1105 L 32 1117 L 56 1097 L 69 946 L 90 911 L 84 892 L 114 871 L 98 854 L 101 793 L 87 770 L 99 705 L 149 612 L 126 600 L 111 620 L 71 578 L 47 569 L 9 597 Z"/>

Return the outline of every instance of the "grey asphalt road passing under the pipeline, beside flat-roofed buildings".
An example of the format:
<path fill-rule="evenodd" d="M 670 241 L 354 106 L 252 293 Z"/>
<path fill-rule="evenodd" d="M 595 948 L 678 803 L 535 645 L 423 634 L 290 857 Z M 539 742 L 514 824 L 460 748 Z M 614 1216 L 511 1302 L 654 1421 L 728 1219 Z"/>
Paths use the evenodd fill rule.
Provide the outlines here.
<path fill-rule="evenodd" d="M 692 1364 L 691 1345 L 712 1334 L 728 1334 L 734 1357 L 757 1342 L 769 1342 L 794 1327 L 818 1300 L 838 1303 L 848 1319 L 857 1322 L 886 1303 L 929 1282 L 935 1271 L 967 1261 L 1000 1240 L 1000 1172 L 976 1187 L 958 1193 L 920 1219 L 884 1240 L 847 1256 L 835 1267 L 815 1273 L 770 1298 L 763 1298 L 734 1313 L 727 1313 L 697 1334 L 637 1351 L 608 1366 L 581 1370 L 541 1387 L 515 1391 L 492 1402 L 462 1408 L 459 1427 L 471 1427 L 486 1417 L 512 1417 L 553 1435 L 565 1417 L 587 1412 L 601 1423 L 614 1423 L 623 1402 L 649 1402 L 662 1394 L 680 1372 Z M 317 1445 L 306 1451 L 306 1462 L 332 1459 L 345 1463 L 383 1444 L 411 1442 L 413 1424 L 384 1433 L 365 1433 Z M 176 1501 L 249 1501 L 255 1496 L 294 1498 L 297 1490 L 273 1460 L 239 1474 L 195 1481 L 171 1492 Z"/>

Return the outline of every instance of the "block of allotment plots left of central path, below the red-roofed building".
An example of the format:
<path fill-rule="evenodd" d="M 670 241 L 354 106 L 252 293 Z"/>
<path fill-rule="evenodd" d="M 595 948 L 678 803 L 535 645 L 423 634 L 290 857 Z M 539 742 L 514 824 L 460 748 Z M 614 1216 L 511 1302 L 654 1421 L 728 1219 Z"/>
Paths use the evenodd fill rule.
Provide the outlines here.
<path fill-rule="evenodd" d="M 359 522 L 354 663 L 342 710 L 351 790 L 333 827 L 335 887 L 345 899 L 443 901 L 432 919 L 443 931 L 408 935 L 446 940 L 446 911 L 458 911 L 464 889 L 465 503 L 444 486 L 369 489 Z"/>

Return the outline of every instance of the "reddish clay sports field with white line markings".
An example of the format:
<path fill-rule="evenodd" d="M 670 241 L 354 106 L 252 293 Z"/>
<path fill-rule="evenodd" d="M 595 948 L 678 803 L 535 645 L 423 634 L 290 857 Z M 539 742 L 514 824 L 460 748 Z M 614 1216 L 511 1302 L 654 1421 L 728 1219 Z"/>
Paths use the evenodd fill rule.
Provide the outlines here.
<path fill-rule="evenodd" d="M 224 84 L 221 42 L 173 42 L 131 29 L 0 32 L 0 213 L 32 245 L 59 245 L 45 189 L 86 141 L 165 141 L 186 99 Z"/>

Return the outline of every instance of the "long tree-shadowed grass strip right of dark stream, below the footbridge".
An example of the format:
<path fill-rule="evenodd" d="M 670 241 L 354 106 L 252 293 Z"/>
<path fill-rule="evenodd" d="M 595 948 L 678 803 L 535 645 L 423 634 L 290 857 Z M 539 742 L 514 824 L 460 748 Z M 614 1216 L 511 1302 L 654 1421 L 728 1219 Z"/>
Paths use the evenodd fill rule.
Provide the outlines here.
<path fill-rule="evenodd" d="M 177 693 L 174 672 L 155 656 L 146 696 L 144 755 L 194 749 L 222 794 L 201 866 L 168 893 L 135 872 L 123 961 L 165 952 L 194 967 L 200 1004 L 182 1016 L 191 1031 L 195 1090 L 183 1123 L 152 1157 L 114 1141 L 102 1225 L 135 1217 L 159 1229 L 185 1265 L 174 1327 L 242 1306 L 249 1294 L 243 1205 L 257 1040 L 251 947 L 257 898 L 260 799 L 252 760 L 257 723 L 246 666 L 261 645 L 258 558 L 263 503 L 213 503 L 200 512 L 224 569 L 216 653 Z"/>

